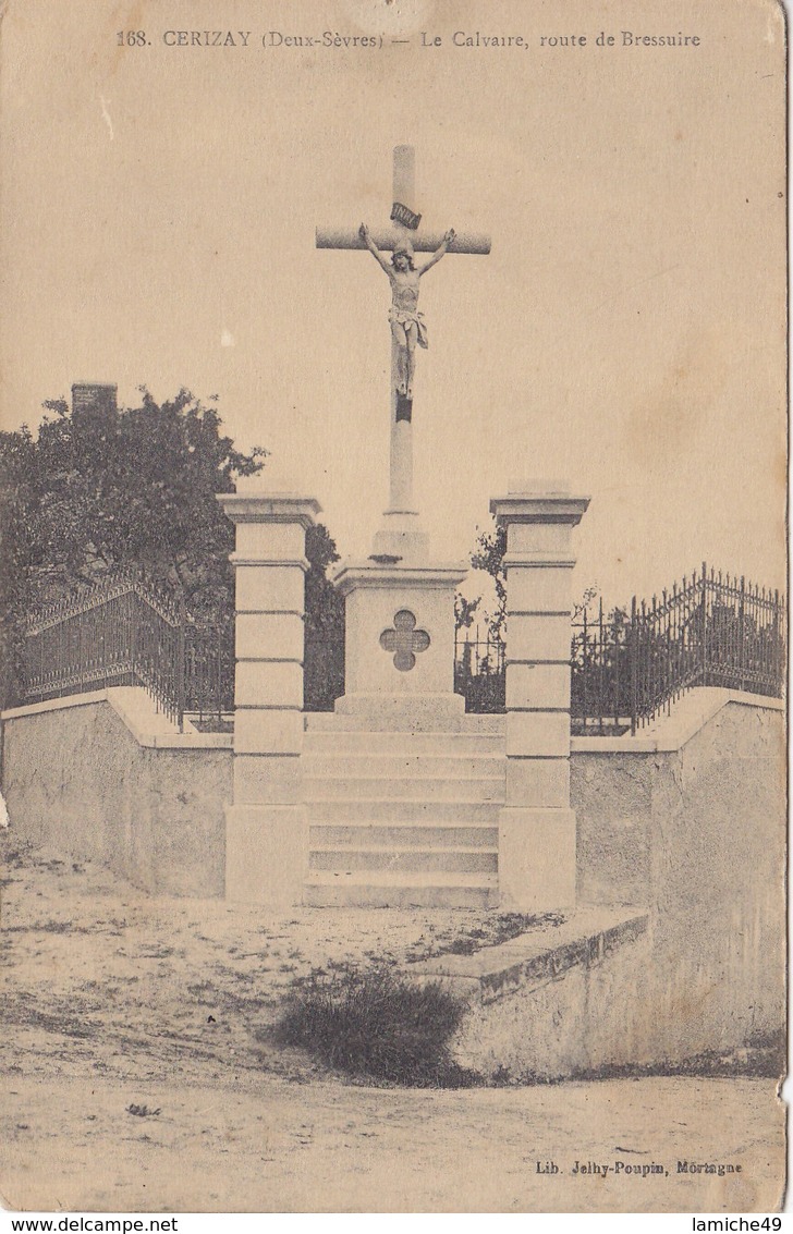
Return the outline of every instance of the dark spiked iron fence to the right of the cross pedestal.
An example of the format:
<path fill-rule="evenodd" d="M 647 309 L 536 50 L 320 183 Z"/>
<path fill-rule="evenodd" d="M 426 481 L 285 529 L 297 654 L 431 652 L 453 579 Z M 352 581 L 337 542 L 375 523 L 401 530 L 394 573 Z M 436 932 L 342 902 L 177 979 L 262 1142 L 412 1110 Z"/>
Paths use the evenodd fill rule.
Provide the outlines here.
<path fill-rule="evenodd" d="M 458 631 L 455 689 L 469 711 L 503 711 L 503 643 L 474 634 Z M 779 592 L 704 565 L 650 602 L 601 601 L 572 623 L 572 732 L 635 733 L 693 686 L 782 697 L 786 648 Z"/>

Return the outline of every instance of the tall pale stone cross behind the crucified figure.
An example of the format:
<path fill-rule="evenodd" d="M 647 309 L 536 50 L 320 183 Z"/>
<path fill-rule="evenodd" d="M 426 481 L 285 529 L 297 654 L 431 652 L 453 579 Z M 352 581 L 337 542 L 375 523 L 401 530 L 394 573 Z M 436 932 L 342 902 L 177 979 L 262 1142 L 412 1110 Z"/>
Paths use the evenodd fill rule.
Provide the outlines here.
<path fill-rule="evenodd" d="M 434 253 L 443 242 L 440 232 L 419 232 L 421 215 L 416 212 L 416 152 L 412 146 L 396 146 L 393 151 L 393 207 L 391 226 L 372 227 L 371 239 L 379 249 L 391 251 L 409 241 L 418 253 Z M 360 221 L 359 221 L 360 222 Z M 366 248 L 355 227 L 318 227 L 317 248 Z M 458 232 L 449 244 L 449 253 L 490 253 L 490 236 Z M 388 515 L 414 515 L 413 507 L 413 439 L 412 400 L 397 395 L 397 344 L 391 341 L 391 496 Z"/>

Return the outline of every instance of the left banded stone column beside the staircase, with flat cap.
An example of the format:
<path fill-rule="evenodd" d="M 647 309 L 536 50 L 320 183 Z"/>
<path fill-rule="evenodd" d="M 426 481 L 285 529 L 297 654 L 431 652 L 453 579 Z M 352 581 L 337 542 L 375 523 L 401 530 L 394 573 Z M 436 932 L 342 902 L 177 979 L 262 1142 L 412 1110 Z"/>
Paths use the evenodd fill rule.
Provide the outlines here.
<path fill-rule="evenodd" d="M 217 500 L 237 528 L 233 802 L 226 810 L 226 895 L 300 903 L 306 529 L 313 497 L 268 491 L 258 476 Z"/>

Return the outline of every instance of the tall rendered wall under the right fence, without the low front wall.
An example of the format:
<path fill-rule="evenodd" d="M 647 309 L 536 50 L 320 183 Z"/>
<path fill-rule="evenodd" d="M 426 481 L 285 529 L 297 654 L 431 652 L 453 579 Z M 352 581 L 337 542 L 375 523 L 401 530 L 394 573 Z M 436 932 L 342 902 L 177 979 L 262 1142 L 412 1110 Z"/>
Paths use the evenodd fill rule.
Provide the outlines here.
<path fill-rule="evenodd" d="M 649 911 L 634 997 L 676 1058 L 784 1024 L 784 713 L 726 691 L 688 710 L 708 698 L 682 737 L 670 721 L 634 752 L 571 756 L 578 901 Z"/>

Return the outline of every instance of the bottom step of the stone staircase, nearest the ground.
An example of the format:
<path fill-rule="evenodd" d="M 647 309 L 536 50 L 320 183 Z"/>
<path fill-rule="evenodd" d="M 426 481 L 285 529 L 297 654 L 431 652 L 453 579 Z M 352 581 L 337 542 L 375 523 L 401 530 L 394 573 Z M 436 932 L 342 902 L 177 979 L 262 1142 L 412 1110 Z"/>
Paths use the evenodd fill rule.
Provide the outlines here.
<path fill-rule="evenodd" d="M 317 908 L 492 908 L 498 903 L 498 881 L 490 874 L 312 870 L 303 885 L 303 903 Z"/>

